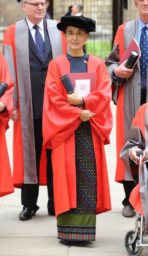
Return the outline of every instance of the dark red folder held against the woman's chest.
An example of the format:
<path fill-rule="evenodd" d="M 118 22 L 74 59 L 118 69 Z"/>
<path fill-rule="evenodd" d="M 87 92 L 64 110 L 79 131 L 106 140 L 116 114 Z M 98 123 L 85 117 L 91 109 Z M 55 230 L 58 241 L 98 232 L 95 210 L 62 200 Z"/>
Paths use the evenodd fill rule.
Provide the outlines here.
<path fill-rule="evenodd" d="M 75 87 L 75 80 L 90 79 L 90 92 L 97 90 L 97 73 L 68 73 L 67 74 Z"/>

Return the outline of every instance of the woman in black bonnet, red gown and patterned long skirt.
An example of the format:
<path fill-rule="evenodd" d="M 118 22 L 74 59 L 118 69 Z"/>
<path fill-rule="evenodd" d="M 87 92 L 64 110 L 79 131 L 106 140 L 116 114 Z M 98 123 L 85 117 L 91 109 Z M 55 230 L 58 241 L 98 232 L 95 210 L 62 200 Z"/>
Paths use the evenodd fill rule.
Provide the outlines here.
<path fill-rule="evenodd" d="M 64 16 L 70 52 L 50 62 L 43 104 L 43 146 L 52 148 L 58 239 L 81 245 L 95 241 L 96 214 L 111 210 L 104 145 L 112 129 L 111 85 L 103 60 L 83 53 L 95 20 Z M 97 73 L 97 90 L 67 94 L 60 77 Z M 74 106 L 76 105 L 76 106 Z"/>

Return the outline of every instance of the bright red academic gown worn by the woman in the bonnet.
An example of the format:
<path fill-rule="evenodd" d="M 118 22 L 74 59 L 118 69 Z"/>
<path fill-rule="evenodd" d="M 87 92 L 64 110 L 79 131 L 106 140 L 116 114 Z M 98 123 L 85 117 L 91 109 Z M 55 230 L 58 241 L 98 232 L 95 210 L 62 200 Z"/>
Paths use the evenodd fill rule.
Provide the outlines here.
<path fill-rule="evenodd" d="M 111 85 L 103 60 L 89 55 L 88 72 L 97 72 L 97 91 L 84 97 L 85 108 L 95 113 L 90 120 L 97 164 L 97 214 L 111 210 L 104 145 L 112 129 Z M 66 90 L 59 79 L 70 73 L 66 56 L 50 62 L 43 105 L 43 146 L 52 148 L 53 184 L 56 216 L 76 208 L 76 171 L 74 131 L 82 120 L 81 108 L 67 102 Z"/>

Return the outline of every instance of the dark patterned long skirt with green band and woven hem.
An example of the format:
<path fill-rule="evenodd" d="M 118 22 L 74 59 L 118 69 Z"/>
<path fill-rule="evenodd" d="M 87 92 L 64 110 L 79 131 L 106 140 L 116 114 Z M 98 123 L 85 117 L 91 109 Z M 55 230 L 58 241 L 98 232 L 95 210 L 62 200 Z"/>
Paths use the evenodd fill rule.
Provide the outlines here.
<path fill-rule="evenodd" d="M 58 239 L 95 241 L 97 172 L 90 122 L 75 131 L 77 208 L 58 215 Z"/>

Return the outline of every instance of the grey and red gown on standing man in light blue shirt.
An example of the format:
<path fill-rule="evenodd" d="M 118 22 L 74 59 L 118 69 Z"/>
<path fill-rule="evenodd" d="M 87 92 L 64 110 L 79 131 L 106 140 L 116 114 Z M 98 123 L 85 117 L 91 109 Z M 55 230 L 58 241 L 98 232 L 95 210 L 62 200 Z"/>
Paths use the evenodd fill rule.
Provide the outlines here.
<path fill-rule="evenodd" d="M 108 72 L 112 77 L 114 68 L 118 67 L 118 62 L 129 46 L 133 37 L 137 40 L 138 20 L 132 20 L 122 24 L 116 33 L 113 50 L 105 60 Z M 120 159 L 120 152 L 124 146 L 130 126 L 140 107 L 140 64 L 139 60 L 134 67 L 133 75 L 122 86 L 119 86 L 119 79 L 116 81 L 112 77 L 113 101 L 117 105 L 116 110 L 116 150 L 117 165 L 115 181 L 122 183 L 123 180 L 133 180 L 129 176 L 125 164 Z"/>

